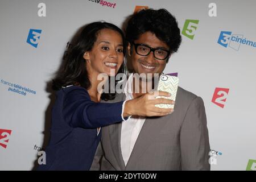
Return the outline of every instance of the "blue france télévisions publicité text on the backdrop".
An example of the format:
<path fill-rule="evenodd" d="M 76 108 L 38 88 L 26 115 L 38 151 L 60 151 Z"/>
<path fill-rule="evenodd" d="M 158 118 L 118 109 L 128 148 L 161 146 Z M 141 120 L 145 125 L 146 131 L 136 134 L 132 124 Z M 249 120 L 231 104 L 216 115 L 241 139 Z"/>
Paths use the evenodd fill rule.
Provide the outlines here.
<path fill-rule="evenodd" d="M 18 93 L 22 96 L 27 96 L 27 93 L 36 94 L 35 90 L 31 90 L 30 88 L 27 88 L 26 86 L 22 86 L 19 84 L 15 84 L 13 82 L 5 81 L 1 79 L 1 84 L 6 85 L 8 87 L 8 91 Z"/>

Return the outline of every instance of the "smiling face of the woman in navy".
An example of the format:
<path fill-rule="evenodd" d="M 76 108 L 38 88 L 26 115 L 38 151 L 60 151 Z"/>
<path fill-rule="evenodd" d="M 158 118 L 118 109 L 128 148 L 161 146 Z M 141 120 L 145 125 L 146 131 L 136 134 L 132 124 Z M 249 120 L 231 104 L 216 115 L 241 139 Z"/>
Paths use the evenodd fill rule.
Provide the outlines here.
<path fill-rule="evenodd" d="M 123 63 L 122 36 L 108 28 L 100 30 L 92 50 L 84 53 L 84 59 L 89 75 L 114 76 Z"/>

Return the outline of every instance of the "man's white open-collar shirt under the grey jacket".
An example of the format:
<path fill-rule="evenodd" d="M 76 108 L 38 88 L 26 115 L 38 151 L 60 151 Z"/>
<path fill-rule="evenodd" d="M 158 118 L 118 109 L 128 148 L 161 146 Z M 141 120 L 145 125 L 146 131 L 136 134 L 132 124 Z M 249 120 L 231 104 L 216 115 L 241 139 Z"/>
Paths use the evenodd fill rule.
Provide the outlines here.
<path fill-rule="evenodd" d="M 133 84 L 133 74 L 129 76 L 125 85 L 126 101 L 133 99 L 131 84 Z M 131 116 L 129 119 L 127 119 L 127 122 L 122 122 L 121 152 L 123 156 L 123 161 L 125 162 L 125 166 L 130 158 L 134 144 L 139 136 L 139 133 L 141 132 L 145 120 L 145 117 L 134 118 L 133 116 Z"/>

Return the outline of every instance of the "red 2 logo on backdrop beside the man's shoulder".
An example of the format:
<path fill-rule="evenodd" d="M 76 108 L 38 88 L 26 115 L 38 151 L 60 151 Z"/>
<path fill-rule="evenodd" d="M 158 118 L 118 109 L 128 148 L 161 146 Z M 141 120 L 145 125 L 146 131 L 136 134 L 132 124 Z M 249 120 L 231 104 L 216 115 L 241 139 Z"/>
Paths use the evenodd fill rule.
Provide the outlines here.
<path fill-rule="evenodd" d="M 229 93 L 229 89 L 216 88 L 212 97 L 212 102 L 224 108 L 228 93 Z"/>

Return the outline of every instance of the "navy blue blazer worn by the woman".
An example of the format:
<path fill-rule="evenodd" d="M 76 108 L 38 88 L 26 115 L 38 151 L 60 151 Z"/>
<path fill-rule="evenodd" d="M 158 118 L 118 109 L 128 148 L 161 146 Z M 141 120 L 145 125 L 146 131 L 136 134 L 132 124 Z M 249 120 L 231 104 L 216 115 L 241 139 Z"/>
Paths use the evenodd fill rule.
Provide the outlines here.
<path fill-rule="evenodd" d="M 81 86 L 63 88 L 56 96 L 46 164 L 37 169 L 89 170 L 101 138 L 101 131 L 97 135 L 97 127 L 123 121 L 123 101 L 93 102 Z"/>

